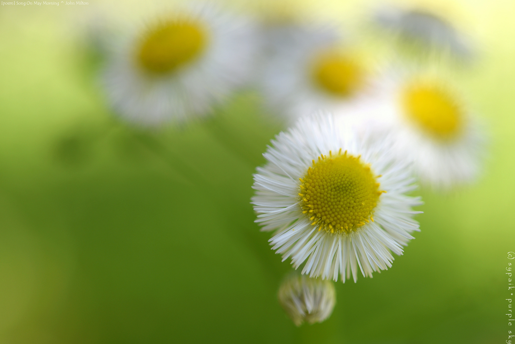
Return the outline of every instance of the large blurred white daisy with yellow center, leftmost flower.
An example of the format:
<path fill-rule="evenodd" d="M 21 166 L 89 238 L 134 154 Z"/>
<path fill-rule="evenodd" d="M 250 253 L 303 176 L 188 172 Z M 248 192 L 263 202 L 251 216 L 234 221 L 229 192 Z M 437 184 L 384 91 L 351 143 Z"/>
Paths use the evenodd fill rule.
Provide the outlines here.
<path fill-rule="evenodd" d="M 204 116 L 249 77 L 256 42 L 250 22 L 211 5 L 162 13 L 115 47 L 109 101 L 143 126 Z"/>

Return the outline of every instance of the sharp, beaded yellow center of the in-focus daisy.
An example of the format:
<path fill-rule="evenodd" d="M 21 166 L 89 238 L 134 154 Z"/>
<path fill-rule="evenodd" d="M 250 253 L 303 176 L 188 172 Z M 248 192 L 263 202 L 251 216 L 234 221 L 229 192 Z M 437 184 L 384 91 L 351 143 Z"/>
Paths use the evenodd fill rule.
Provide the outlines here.
<path fill-rule="evenodd" d="M 302 213 L 318 225 L 318 230 L 334 233 L 350 233 L 373 221 L 372 212 L 385 191 L 379 191 L 370 167 L 359 157 L 341 154 L 313 160 L 300 179 Z"/>

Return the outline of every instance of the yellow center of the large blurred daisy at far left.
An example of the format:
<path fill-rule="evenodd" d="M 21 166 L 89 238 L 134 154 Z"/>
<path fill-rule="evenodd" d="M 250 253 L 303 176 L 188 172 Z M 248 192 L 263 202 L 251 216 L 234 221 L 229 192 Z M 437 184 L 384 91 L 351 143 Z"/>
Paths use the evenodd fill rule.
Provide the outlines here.
<path fill-rule="evenodd" d="M 197 23 L 166 22 L 147 32 L 141 42 L 139 62 L 149 72 L 165 74 L 198 57 L 205 41 L 205 33 Z"/>

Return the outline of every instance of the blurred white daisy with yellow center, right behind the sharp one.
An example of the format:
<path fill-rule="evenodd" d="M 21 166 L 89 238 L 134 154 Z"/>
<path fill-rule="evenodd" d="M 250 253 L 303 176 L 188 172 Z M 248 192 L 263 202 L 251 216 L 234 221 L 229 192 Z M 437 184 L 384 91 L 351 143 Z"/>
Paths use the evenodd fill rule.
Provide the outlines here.
<path fill-rule="evenodd" d="M 375 124 L 369 127 L 394 132 L 394 151 L 413 163 L 421 182 L 449 188 L 477 176 L 484 135 L 442 82 L 419 78 L 388 86 L 370 112 Z"/>

